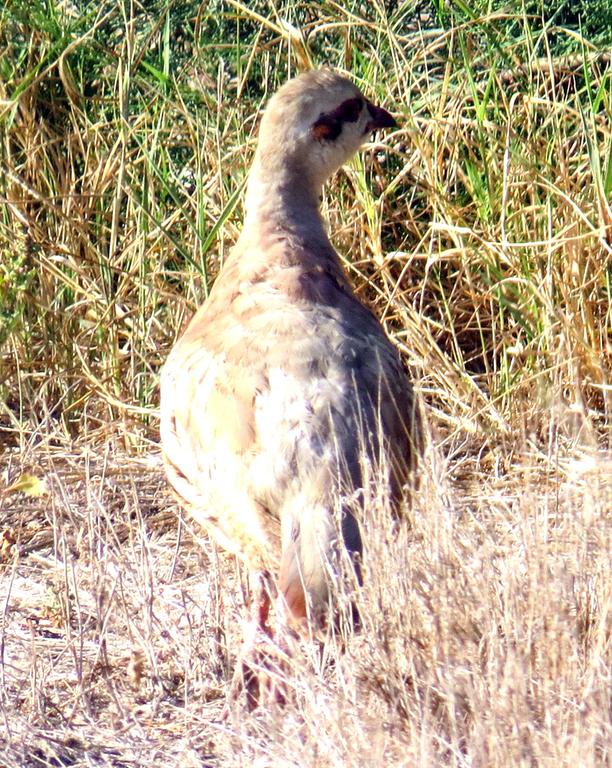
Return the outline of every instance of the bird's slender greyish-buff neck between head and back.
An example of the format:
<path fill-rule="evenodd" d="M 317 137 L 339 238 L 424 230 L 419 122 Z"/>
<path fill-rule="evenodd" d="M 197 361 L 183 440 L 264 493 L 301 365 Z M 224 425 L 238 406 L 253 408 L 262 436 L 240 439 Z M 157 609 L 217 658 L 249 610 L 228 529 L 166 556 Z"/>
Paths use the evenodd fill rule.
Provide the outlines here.
<path fill-rule="evenodd" d="M 247 186 L 245 234 L 254 234 L 265 226 L 328 242 L 319 210 L 321 188 L 296 169 L 256 163 Z"/>

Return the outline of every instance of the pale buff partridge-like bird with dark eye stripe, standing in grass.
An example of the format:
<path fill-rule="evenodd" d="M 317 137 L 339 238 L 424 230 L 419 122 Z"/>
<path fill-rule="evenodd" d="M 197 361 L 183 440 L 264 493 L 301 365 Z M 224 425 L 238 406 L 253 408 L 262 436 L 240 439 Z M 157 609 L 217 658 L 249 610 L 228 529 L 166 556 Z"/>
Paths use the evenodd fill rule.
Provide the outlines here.
<path fill-rule="evenodd" d="M 399 509 L 420 450 L 408 374 L 320 212 L 325 182 L 396 125 L 332 69 L 272 96 L 241 234 L 161 373 L 169 483 L 263 585 L 266 632 L 273 600 L 296 626 L 329 621 L 343 555 L 361 578 L 366 486 Z"/>

